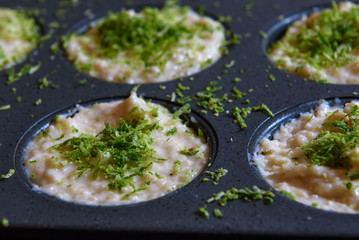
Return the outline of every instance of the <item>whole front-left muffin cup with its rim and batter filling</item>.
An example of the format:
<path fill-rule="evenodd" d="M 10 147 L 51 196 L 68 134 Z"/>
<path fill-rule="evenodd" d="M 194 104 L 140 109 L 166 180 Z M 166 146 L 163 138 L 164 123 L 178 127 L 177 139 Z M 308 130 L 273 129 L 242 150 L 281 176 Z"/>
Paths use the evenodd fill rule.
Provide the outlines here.
<path fill-rule="evenodd" d="M 156 107 L 163 106 L 165 109 L 168 110 L 170 114 L 173 115 L 176 115 L 176 113 L 179 113 L 183 110 L 183 108 L 181 108 L 180 105 L 168 101 L 164 101 L 161 99 L 153 99 L 153 98 L 149 100 L 150 101 L 146 101 L 146 104 L 150 104 L 151 106 L 155 105 Z M 127 103 L 123 104 L 126 101 Z M 145 105 L 141 105 L 141 104 L 143 104 L 145 101 L 140 98 L 137 98 L 137 96 L 134 97 L 132 94 L 129 98 L 126 99 L 123 97 L 105 98 L 105 99 L 98 99 L 89 102 L 84 102 L 73 106 L 68 106 L 56 112 L 53 112 L 45 116 L 44 118 L 40 119 L 38 122 L 36 122 L 33 126 L 29 128 L 29 130 L 20 139 L 15 152 L 16 172 L 23 180 L 25 186 L 28 189 L 37 192 L 41 196 L 59 199 L 66 202 L 72 202 L 75 204 L 95 205 L 95 206 L 118 206 L 118 205 L 128 205 L 128 204 L 135 204 L 135 203 L 154 200 L 159 197 L 163 197 L 167 194 L 172 194 L 173 192 L 176 192 L 177 189 L 184 187 L 185 185 L 191 184 L 191 182 L 196 181 L 195 179 L 197 179 L 197 177 L 202 174 L 202 171 L 204 171 L 204 169 L 207 168 L 207 164 L 211 163 L 216 157 L 217 144 L 218 144 L 217 136 L 211 125 L 200 114 L 197 114 L 195 112 L 190 112 L 189 114 L 183 113 L 180 116 L 181 121 L 174 121 L 174 122 L 179 122 L 181 124 L 176 123 L 174 125 L 173 122 L 172 123 L 161 122 L 163 119 L 165 119 L 162 114 L 168 113 L 167 110 L 162 111 L 161 107 L 159 109 L 157 108 L 151 109 L 151 115 L 158 114 L 158 118 L 159 118 L 158 122 L 160 122 L 159 123 L 160 128 L 158 128 L 160 130 L 156 132 L 155 129 L 151 133 L 152 134 L 151 137 L 153 136 L 153 142 L 155 145 L 154 146 L 155 153 L 153 153 L 153 151 L 151 150 L 150 147 L 148 147 L 148 145 L 141 145 L 144 146 L 144 149 L 146 150 L 145 154 L 150 155 L 151 153 L 153 153 L 154 155 L 150 155 L 150 158 L 152 160 L 147 161 L 146 162 L 147 165 L 142 164 L 138 168 L 132 168 L 132 170 L 135 169 L 133 171 L 137 171 L 136 173 L 138 174 L 135 176 L 135 173 L 133 173 L 134 181 L 130 181 L 131 172 L 127 172 L 127 173 L 124 172 L 123 174 L 126 175 L 126 177 L 123 178 L 120 178 L 120 176 L 113 176 L 115 178 L 112 178 L 110 175 L 107 175 L 106 177 L 112 180 L 103 181 L 105 179 L 101 176 L 98 176 L 98 179 L 101 180 L 100 182 L 92 181 L 86 183 L 88 179 L 92 179 L 92 177 L 95 176 L 94 174 L 95 171 L 92 170 L 90 170 L 87 175 L 84 172 L 85 174 L 84 177 L 86 179 L 81 180 L 82 185 L 76 185 L 77 183 L 68 181 L 69 180 L 68 178 L 70 178 L 70 180 L 72 178 L 82 179 L 82 177 L 79 177 L 82 173 L 81 174 L 77 174 L 77 173 L 79 173 L 79 171 L 81 171 L 81 169 L 83 169 L 84 167 L 84 165 L 81 166 L 78 165 L 77 163 L 76 163 L 77 165 L 74 164 L 75 160 L 73 158 L 71 159 L 69 157 L 70 155 L 65 154 L 67 149 L 61 148 L 59 150 L 59 148 L 57 148 L 58 146 L 66 146 L 67 148 L 68 147 L 67 144 L 65 145 L 61 145 L 61 144 L 65 143 L 66 141 L 67 142 L 76 141 L 81 137 L 83 137 L 83 135 L 80 135 L 80 133 L 83 132 L 81 126 L 79 125 L 75 126 L 74 124 L 72 124 L 74 122 L 69 122 L 70 121 L 69 119 L 71 120 L 75 118 L 77 118 L 77 120 L 81 119 L 81 122 L 88 124 L 87 122 L 90 122 L 90 120 L 86 120 L 85 118 L 83 118 L 84 115 L 81 115 L 81 117 L 79 117 L 80 113 L 90 114 L 89 116 L 91 116 L 91 113 L 89 112 L 97 113 L 97 110 L 101 109 L 102 113 L 106 115 L 106 117 L 115 116 L 115 115 L 120 116 L 121 114 L 126 113 L 126 111 L 129 111 L 130 106 L 132 112 L 137 113 L 137 111 L 140 111 L 138 110 L 139 108 L 136 107 L 132 108 L 132 104 L 137 103 L 137 101 L 139 102 L 138 106 L 140 106 L 140 108 L 143 109 Z M 118 107 L 118 109 L 113 109 L 112 108 L 113 106 Z M 96 107 L 97 110 L 94 107 Z M 124 112 L 119 112 L 120 109 L 124 109 L 124 107 L 127 107 L 127 109 L 124 110 Z M 149 114 L 149 112 L 146 112 L 146 114 Z M 98 118 L 101 118 L 101 116 L 98 116 Z M 118 122 L 120 121 L 119 119 L 109 118 L 108 123 L 112 125 L 112 123 L 117 122 L 117 120 Z M 66 126 L 67 123 L 71 123 L 71 124 Z M 53 128 L 54 126 L 56 127 L 60 126 L 62 128 L 62 132 L 64 135 L 59 134 L 59 136 L 56 136 L 55 139 L 55 137 L 51 135 L 56 133 L 56 131 L 54 131 Z M 96 128 L 96 124 L 94 124 L 93 126 L 94 126 L 93 128 Z M 124 126 L 126 125 L 121 125 L 121 129 L 124 128 Z M 146 128 L 147 127 L 155 128 L 155 126 L 157 125 L 153 123 L 151 126 L 146 125 Z M 72 138 L 67 137 L 68 127 L 70 127 L 70 131 L 72 133 L 76 133 L 74 135 L 75 137 Z M 101 128 L 105 129 L 103 127 Z M 50 129 L 52 133 L 50 132 Z M 107 133 L 113 131 L 113 128 L 106 128 L 106 129 L 107 129 L 106 130 Z M 118 129 L 120 129 L 120 127 Z M 125 129 L 127 129 L 127 127 Z M 121 132 L 122 130 L 118 130 L 118 131 Z M 90 134 L 90 133 L 87 132 L 86 134 Z M 103 136 L 102 139 L 105 139 L 104 132 L 102 132 L 101 135 L 98 135 L 97 133 L 93 137 L 95 138 L 96 135 L 97 136 L 102 135 Z M 161 135 L 165 135 L 165 136 L 161 136 Z M 106 135 L 106 137 L 108 136 L 113 136 L 113 135 Z M 122 135 L 120 136 L 122 137 Z M 158 136 L 159 136 L 158 139 L 161 139 L 161 141 L 160 140 L 157 141 Z M 164 139 L 163 137 L 165 137 L 166 139 Z M 44 147 L 45 150 L 43 150 L 43 152 L 45 152 L 46 154 L 50 154 L 47 156 L 47 158 L 48 160 L 51 159 L 50 161 L 46 161 L 45 163 L 40 162 L 39 159 L 41 159 L 41 157 L 38 157 L 40 155 L 33 154 L 34 152 L 33 149 L 36 149 L 33 146 L 40 145 L 41 148 L 41 146 L 48 144 L 48 142 L 43 141 L 42 138 L 50 138 L 51 140 L 56 140 L 53 143 L 51 143 L 49 146 Z M 185 140 L 183 140 L 182 138 Z M 135 142 L 142 141 L 140 137 L 137 138 L 136 136 L 136 139 L 137 140 Z M 36 143 L 36 141 L 38 141 L 38 143 Z M 130 142 L 129 140 L 128 141 L 126 140 L 126 142 L 125 143 L 123 142 L 123 144 L 127 144 L 129 142 Z M 149 140 L 149 142 L 151 142 L 151 140 Z M 190 145 L 195 143 L 196 143 L 195 146 Z M 96 146 L 98 146 L 98 144 L 102 144 L 102 143 L 98 142 L 96 144 L 97 144 Z M 174 146 L 177 147 L 178 152 L 177 150 L 170 148 L 170 147 L 173 148 Z M 49 147 L 51 148 L 51 151 L 48 152 Z M 122 149 L 122 148 L 118 147 L 118 149 Z M 126 148 L 126 149 L 128 150 L 129 153 L 133 153 L 132 149 L 130 148 Z M 92 153 L 93 150 L 94 148 L 91 149 L 91 154 L 93 154 Z M 105 152 L 105 150 L 101 150 L 101 151 L 102 151 L 101 152 L 102 155 L 97 155 L 96 156 L 97 159 L 99 156 L 100 157 L 105 155 L 109 156 Z M 110 150 L 108 150 L 108 153 L 109 152 Z M 136 153 L 139 154 L 138 152 Z M 60 155 L 58 155 L 58 153 L 60 153 Z M 121 154 L 122 153 L 123 151 L 121 152 Z M 65 155 L 66 157 L 64 158 Z M 127 159 L 127 158 L 131 158 L 133 155 L 128 154 L 125 156 Z M 116 159 L 119 159 L 119 156 L 120 155 L 116 155 Z M 58 157 L 60 157 L 61 160 Z M 81 158 L 82 157 L 84 156 L 81 155 Z M 92 161 L 96 162 L 97 160 L 92 160 Z M 103 158 L 101 158 L 101 161 L 103 161 Z M 77 167 L 71 170 L 72 177 L 61 175 L 61 171 L 66 172 L 67 171 L 66 168 L 68 166 L 70 167 L 70 165 L 67 165 L 69 162 L 71 162 L 70 163 L 71 165 L 73 164 L 74 166 L 76 165 Z M 36 165 L 36 164 L 40 164 L 40 165 Z M 101 166 L 101 169 L 104 169 L 104 171 L 107 171 L 107 173 L 109 173 L 108 172 L 110 169 L 109 167 L 111 168 L 113 167 L 113 164 L 112 165 L 111 164 L 112 162 L 109 162 L 108 165 Z M 134 163 L 128 162 L 128 165 L 131 164 Z M 121 167 L 123 166 L 124 165 L 121 165 Z M 36 171 L 34 171 L 34 169 L 36 169 Z M 46 178 L 49 178 L 50 180 L 46 178 L 45 180 L 43 179 L 40 179 L 39 181 L 35 180 L 38 176 L 40 176 L 40 173 L 42 174 L 44 172 L 44 169 L 47 169 L 46 170 L 47 172 L 45 171 L 46 172 L 45 175 L 41 175 L 41 177 L 46 176 Z M 75 172 L 73 170 L 75 170 Z M 120 170 L 121 169 L 119 169 L 118 171 Z M 36 174 L 39 175 L 36 176 L 34 172 L 36 172 Z M 100 175 L 101 174 L 105 175 L 107 173 L 100 172 Z M 114 172 L 111 172 L 111 174 L 114 174 Z M 138 179 L 141 180 L 141 184 L 142 184 L 141 187 L 136 185 L 137 183 L 135 181 L 137 179 L 137 176 L 140 176 Z M 115 181 L 114 179 L 119 179 L 121 181 Z M 128 179 L 127 185 L 123 185 L 123 186 L 118 185 L 119 183 L 123 183 L 122 180 L 125 181 L 126 179 Z M 39 186 L 42 184 L 44 185 Z M 56 188 L 56 186 L 60 186 L 60 190 L 61 188 L 68 189 L 73 187 L 74 189 L 69 191 L 70 193 L 71 192 L 73 193 L 71 194 L 69 192 L 54 193 L 52 191 L 49 191 L 49 189 Z M 95 190 L 90 188 L 81 189 L 79 188 L 79 186 L 90 186 L 90 187 L 95 186 Z M 117 192 L 117 190 L 114 189 L 113 187 L 116 187 L 116 189 L 121 189 L 121 190 Z M 110 188 L 112 190 L 109 190 Z M 99 189 L 106 189 L 106 190 L 104 192 L 96 192 L 99 191 Z M 157 190 L 157 192 L 155 190 Z M 82 195 L 84 196 L 85 199 L 81 199 L 83 197 Z"/>

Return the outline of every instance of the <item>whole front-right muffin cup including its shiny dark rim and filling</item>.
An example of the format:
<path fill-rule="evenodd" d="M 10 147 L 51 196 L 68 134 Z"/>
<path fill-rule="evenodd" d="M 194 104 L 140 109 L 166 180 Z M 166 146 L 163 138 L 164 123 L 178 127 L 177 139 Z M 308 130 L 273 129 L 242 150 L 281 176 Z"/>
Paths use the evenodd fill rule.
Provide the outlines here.
<path fill-rule="evenodd" d="M 342 132 L 334 125 L 322 124 L 334 122 L 340 126 L 339 121 L 344 121 L 345 114 L 351 111 L 346 107 L 343 113 L 344 105 L 352 101 L 359 103 L 354 97 L 312 101 L 287 108 L 263 122 L 248 145 L 249 162 L 256 176 L 272 186 L 277 195 L 281 193 L 300 204 L 340 213 L 358 213 L 356 162 L 350 160 L 350 167 L 344 166 L 341 162 L 344 160 L 334 155 L 334 151 L 320 152 L 327 146 L 332 149 L 342 146 L 340 141 L 330 142 Z M 353 111 L 355 119 L 354 114 L 359 113 Z M 356 149 L 351 148 L 350 159 L 355 159 Z"/>

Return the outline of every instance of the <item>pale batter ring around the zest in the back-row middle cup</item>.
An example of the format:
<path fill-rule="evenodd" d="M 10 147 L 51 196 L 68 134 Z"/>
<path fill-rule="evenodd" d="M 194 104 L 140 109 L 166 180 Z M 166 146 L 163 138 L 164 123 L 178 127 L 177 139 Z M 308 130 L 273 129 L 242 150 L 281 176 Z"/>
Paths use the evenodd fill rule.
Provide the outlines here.
<path fill-rule="evenodd" d="M 190 9 L 184 12 L 176 9 L 171 11 L 173 14 L 171 12 L 162 14 L 165 24 L 202 25 L 211 30 L 181 39 L 178 46 L 166 48 L 164 65 L 145 66 L 143 61 L 135 60 L 126 49 L 114 58 L 102 56 L 99 50 L 98 23 L 92 24 L 83 35 L 69 36 L 65 44 L 67 56 L 77 69 L 90 76 L 110 82 L 130 84 L 169 81 L 195 74 L 215 63 L 221 57 L 224 47 L 223 26 Z M 133 17 L 143 17 L 142 12 L 136 13 L 133 10 L 128 10 L 128 14 Z M 100 23 L 105 20 L 106 18 L 100 20 Z"/>

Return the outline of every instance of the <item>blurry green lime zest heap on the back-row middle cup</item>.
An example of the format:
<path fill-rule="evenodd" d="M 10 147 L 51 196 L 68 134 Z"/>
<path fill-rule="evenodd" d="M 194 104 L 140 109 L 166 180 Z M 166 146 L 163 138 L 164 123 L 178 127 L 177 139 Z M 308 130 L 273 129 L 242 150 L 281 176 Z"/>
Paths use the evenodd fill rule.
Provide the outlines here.
<path fill-rule="evenodd" d="M 189 10 L 168 1 L 162 9 L 146 7 L 140 14 L 127 10 L 110 12 L 98 25 L 100 52 L 108 58 L 126 52 L 145 67 L 164 66 L 175 54 L 174 49 L 191 48 L 190 43 L 184 44 L 182 39 L 206 38 L 217 31 L 202 21 L 188 24 Z"/>

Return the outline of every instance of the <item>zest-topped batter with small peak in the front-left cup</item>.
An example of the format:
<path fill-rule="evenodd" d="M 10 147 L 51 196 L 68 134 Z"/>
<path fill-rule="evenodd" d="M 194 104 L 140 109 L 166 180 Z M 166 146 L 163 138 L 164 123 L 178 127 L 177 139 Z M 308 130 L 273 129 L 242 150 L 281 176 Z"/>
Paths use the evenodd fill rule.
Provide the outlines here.
<path fill-rule="evenodd" d="M 202 131 L 179 115 L 144 101 L 124 100 L 57 116 L 27 147 L 34 189 L 88 205 L 121 205 L 164 196 L 207 165 Z"/>

